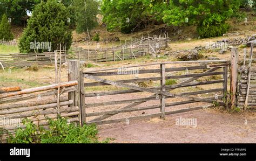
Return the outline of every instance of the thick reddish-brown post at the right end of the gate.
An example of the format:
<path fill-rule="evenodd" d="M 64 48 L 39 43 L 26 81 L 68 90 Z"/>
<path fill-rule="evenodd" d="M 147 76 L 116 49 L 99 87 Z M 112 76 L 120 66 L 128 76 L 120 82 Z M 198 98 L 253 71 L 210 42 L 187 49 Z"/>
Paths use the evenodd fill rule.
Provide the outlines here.
<path fill-rule="evenodd" d="M 238 82 L 238 49 L 232 48 L 231 51 L 231 80 L 230 80 L 230 108 L 236 106 Z"/>

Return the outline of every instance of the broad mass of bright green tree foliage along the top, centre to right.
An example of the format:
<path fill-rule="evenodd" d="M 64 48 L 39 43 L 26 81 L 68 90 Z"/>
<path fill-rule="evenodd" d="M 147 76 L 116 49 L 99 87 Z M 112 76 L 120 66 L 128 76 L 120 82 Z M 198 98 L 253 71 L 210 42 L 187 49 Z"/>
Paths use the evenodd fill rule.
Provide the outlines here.
<path fill-rule="evenodd" d="M 155 20 L 172 26 L 196 25 L 199 36 L 214 37 L 227 31 L 225 21 L 238 11 L 241 1 L 103 0 L 102 14 L 109 31 L 119 29 L 130 33 L 139 25 Z"/>

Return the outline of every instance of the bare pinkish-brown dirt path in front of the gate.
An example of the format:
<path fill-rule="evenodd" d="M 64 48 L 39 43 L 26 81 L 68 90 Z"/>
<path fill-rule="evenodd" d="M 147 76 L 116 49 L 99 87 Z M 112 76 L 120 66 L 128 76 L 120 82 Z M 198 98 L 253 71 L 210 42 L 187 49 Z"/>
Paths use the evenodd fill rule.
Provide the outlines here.
<path fill-rule="evenodd" d="M 176 125 L 177 118 L 197 118 L 197 127 Z M 113 143 L 256 143 L 256 114 L 227 114 L 213 109 L 166 116 L 160 120 L 102 125 L 101 139 Z M 246 124 L 247 121 L 247 124 Z"/>

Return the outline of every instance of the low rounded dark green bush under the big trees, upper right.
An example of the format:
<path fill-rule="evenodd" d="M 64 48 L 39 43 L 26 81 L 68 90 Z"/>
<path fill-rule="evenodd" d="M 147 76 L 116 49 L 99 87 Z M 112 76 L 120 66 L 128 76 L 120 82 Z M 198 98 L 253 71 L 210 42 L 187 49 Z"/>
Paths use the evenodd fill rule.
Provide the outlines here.
<path fill-rule="evenodd" d="M 197 27 L 198 35 L 201 38 L 210 38 L 210 37 L 217 37 L 222 36 L 228 30 L 227 24 L 221 25 L 202 25 Z"/>

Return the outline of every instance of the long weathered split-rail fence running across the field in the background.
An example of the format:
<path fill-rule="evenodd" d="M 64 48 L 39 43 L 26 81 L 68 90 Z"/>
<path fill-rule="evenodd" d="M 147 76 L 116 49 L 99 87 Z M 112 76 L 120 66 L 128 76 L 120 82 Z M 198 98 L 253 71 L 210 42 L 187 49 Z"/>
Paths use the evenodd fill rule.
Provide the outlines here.
<path fill-rule="evenodd" d="M 169 39 L 167 37 L 148 37 L 142 38 L 141 40 L 134 40 L 130 44 L 125 43 L 125 45 L 112 48 L 90 49 L 88 47 L 87 49 L 75 48 L 75 50 L 71 51 L 62 50 L 62 63 L 68 60 L 107 62 L 136 59 L 147 53 L 156 53 L 160 48 L 166 48 L 168 41 Z M 56 52 L 59 53 L 60 50 L 43 53 L 0 53 L 0 62 L 3 67 L 54 65 Z"/>

